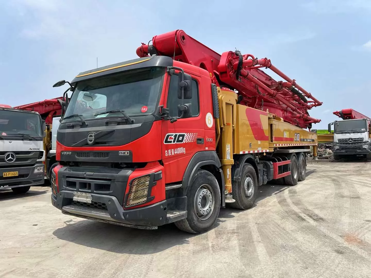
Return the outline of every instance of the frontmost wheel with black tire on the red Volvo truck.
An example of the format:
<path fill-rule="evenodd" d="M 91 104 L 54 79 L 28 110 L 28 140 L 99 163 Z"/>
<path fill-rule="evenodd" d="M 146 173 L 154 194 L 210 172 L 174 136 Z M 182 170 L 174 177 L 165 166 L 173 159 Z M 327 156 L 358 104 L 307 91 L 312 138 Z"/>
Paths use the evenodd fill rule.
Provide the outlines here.
<path fill-rule="evenodd" d="M 209 171 L 198 170 L 187 191 L 187 218 L 174 222 L 178 229 L 200 234 L 209 231 L 220 211 L 220 188 Z"/>

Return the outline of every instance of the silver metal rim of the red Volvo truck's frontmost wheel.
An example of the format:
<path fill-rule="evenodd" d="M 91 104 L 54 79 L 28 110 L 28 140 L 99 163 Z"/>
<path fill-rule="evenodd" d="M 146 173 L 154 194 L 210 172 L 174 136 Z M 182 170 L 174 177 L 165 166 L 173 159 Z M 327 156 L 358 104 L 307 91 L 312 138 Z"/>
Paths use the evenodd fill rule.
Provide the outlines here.
<path fill-rule="evenodd" d="M 208 219 L 214 211 L 215 198 L 214 191 L 208 184 L 201 185 L 194 197 L 194 210 L 198 219 Z"/>

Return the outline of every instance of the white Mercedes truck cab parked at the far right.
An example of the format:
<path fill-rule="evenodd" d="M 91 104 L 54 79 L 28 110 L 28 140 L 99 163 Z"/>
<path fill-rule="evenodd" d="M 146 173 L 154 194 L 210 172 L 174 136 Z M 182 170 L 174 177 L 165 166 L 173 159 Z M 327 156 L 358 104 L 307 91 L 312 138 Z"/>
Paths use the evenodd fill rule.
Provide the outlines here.
<path fill-rule="evenodd" d="M 334 159 L 351 156 L 371 158 L 370 120 L 351 119 L 329 123 L 328 129 L 334 125 L 333 152 Z"/>

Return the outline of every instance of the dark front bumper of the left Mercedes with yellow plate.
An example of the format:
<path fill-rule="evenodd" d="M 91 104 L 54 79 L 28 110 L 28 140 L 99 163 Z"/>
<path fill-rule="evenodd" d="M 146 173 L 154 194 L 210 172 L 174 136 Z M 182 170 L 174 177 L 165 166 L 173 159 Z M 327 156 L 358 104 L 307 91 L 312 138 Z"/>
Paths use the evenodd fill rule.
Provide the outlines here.
<path fill-rule="evenodd" d="M 0 169 L 0 188 L 14 188 L 22 186 L 33 186 L 44 184 L 44 171 L 41 173 L 33 173 L 35 167 L 44 166 L 43 163 L 36 163 L 33 166 L 18 166 L 14 168 L 1 168 Z M 4 172 L 18 172 L 18 176 L 4 178 Z"/>

